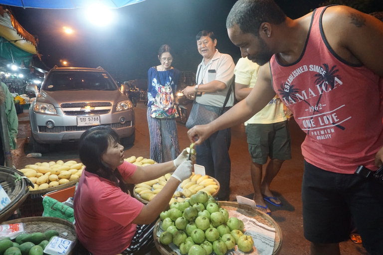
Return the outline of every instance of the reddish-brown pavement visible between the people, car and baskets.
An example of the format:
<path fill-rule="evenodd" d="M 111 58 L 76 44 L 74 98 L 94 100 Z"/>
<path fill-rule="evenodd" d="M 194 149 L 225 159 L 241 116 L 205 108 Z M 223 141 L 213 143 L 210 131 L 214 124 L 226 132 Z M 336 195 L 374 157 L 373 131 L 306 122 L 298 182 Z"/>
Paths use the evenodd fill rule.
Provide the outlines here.
<path fill-rule="evenodd" d="M 187 106 L 191 108 L 191 105 Z M 190 110 L 190 109 L 189 109 Z M 136 113 L 136 141 L 130 148 L 125 148 L 125 156 L 143 156 L 149 158 L 149 129 L 146 120 L 146 106 L 142 102 L 137 104 Z M 41 157 L 26 155 L 32 152 L 31 144 L 28 143 L 30 136 L 28 110 L 18 115 L 19 133 L 17 135 L 16 155 L 12 157 L 13 164 L 17 169 L 27 164 L 51 160 L 77 160 L 77 144 L 56 144 L 51 147 L 49 153 Z M 190 145 L 187 137 L 188 129 L 185 125 L 177 123 L 178 135 L 181 148 Z M 282 247 L 280 255 L 309 255 L 310 243 L 303 237 L 301 184 L 303 176 L 303 156 L 301 143 L 305 133 L 298 127 L 295 120 L 289 121 L 292 138 L 292 159 L 283 163 L 281 170 L 271 183 L 271 190 L 282 201 L 282 207 L 268 204 L 271 210 L 271 218 L 282 230 Z M 247 150 L 246 134 L 244 125 L 231 128 L 231 146 L 229 150 L 231 159 L 230 176 L 230 201 L 236 200 L 236 196 L 253 197 L 253 188 L 250 176 L 251 158 Z M 342 255 L 367 255 L 362 245 L 353 243 L 350 239 L 340 244 Z M 152 251 L 152 254 L 158 254 Z"/>

